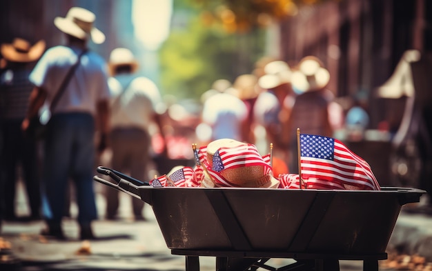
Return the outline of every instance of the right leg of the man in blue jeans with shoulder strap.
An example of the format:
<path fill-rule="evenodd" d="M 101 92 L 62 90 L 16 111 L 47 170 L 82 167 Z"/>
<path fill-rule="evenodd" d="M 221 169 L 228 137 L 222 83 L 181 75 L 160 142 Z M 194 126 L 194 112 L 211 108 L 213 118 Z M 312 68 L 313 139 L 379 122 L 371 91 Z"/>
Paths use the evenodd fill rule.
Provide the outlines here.
<path fill-rule="evenodd" d="M 72 179 L 75 181 L 78 223 L 81 239 L 93 239 L 90 224 L 97 219 L 93 162 L 95 161 L 95 122 L 90 114 L 75 114 L 75 140 L 72 148 Z"/>

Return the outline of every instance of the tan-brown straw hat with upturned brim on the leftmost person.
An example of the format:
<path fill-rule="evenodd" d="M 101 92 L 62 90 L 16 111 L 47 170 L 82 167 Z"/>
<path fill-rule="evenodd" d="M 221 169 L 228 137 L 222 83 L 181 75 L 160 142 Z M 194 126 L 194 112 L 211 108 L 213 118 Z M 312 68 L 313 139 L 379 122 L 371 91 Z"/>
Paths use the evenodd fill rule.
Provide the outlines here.
<path fill-rule="evenodd" d="M 14 62 L 32 62 L 41 57 L 45 50 L 45 41 L 38 41 L 31 46 L 28 41 L 21 38 L 15 38 L 12 43 L 3 43 L 1 45 L 1 54 L 8 61 Z"/>

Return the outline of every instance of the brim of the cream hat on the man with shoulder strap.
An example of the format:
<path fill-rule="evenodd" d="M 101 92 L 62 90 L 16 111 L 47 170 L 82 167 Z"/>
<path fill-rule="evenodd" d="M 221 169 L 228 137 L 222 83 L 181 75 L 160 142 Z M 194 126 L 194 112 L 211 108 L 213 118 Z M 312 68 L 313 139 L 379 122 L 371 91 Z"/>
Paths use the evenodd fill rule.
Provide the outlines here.
<path fill-rule="evenodd" d="M 86 39 L 87 36 L 90 36 L 92 41 L 96 44 L 103 43 L 105 41 L 105 34 L 101 32 L 101 30 L 95 28 L 94 26 L 90 30 L 90 33 L 85 32 L 82 28 L 77 26 L 76 23 L 70 21 L 70 19 L 66 19 L 63 17 L 56 17 L 54 19 L 54 24 L 66 34 L 70 34 L 73 37 L 77 37 L 78 39 Z"/>

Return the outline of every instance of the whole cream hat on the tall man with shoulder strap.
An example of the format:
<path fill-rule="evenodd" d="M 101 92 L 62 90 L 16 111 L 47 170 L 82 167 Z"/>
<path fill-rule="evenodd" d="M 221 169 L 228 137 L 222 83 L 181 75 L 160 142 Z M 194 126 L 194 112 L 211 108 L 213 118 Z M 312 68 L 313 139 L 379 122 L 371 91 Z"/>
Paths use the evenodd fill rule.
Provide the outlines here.
<path fill-rule="evenodd" d="M 66 34 L 70 34 L 78 39 L 87 39 L 90 37 L 94 43 L 100 44 L 105 41 L 105 34 L 95 28 L 96 16 L 90 10 L 84 8 L 70 8 L 66 17 L 56 17 L 54 24 Z"/>

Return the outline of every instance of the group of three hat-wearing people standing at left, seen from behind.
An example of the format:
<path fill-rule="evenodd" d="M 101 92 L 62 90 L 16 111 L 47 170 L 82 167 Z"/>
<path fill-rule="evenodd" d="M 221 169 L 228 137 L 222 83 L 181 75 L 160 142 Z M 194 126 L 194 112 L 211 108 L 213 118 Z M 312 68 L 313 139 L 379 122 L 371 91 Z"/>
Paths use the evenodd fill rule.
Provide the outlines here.
<path fill-rule="evenodd" d="M 57 239 L 66 239 L 61 222 L 70 215 L 71 199 L 77 203 L 79 237 L 95 238 L 92 177 L 106 150 L 112 167 L 146 180 L 153 123 L 164 139 L 159 89 L 137 76 L 132 52 L 116 48 L 106 60 L 88 50 L 89 41 L 105 40 L 95 19 L 89 10 L 70 8 L 54 21 L 66 44 L 47 49 L 44 41 L 32 45 L 17 37 L 1 45 L 0 221 L 43 219 L 41 234 Z M 42 140 L 31 134 L 40 116 L 46 122 Z M 164 140 L 159 153 L 166 154 Z M 17 215 L 19 179 L 26 186 L 29 217 Z M 112 189 L 104 194 L 106 218 L 116 219 L 118 195 Z M 144 219 L 144 202 L 132 205 L 135 219 Z"/>

